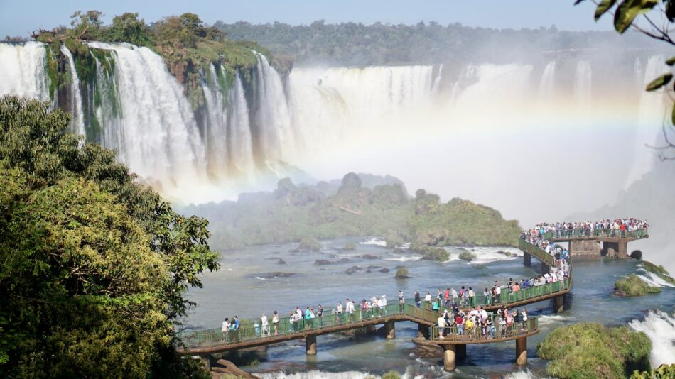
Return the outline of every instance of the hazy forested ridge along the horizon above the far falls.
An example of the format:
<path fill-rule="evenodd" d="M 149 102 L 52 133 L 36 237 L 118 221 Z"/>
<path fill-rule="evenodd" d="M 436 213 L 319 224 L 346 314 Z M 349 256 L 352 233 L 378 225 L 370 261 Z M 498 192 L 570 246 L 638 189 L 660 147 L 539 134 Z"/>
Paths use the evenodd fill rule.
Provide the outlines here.
<path fill-rule="evenodd" d="M 389 23 L 310 25 L 252 24 L 243 21 L 214 25 L 232 40 L 254 40 L 275 55 L 292 57 L 299 65 L 411 65 L 450 62 L 520 62 L 565 53 L 598 53 L 598 50 L 664 51 L 638 33 L 614 31 L 558 31 L 555 26 L 537 29 L 472 28 L 461 23 L 415 25 Z M 556 52 L 556 53 L 551 53 Z M 632 61 L 631 61 L 632 62 Z"/>

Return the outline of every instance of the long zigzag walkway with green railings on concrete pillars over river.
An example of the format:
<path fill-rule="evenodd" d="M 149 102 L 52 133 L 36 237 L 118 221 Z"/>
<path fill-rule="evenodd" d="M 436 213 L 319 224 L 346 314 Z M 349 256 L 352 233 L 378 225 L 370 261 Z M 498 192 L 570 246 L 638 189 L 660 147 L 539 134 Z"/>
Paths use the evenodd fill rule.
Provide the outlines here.
<path fill-rule="evenodd" d="M 554 241 L 553 232 L 545 234 L 544 237 L 549 241 Z M 626 236 L 572 235 L 560 237 L 557 241 L 577 241 L 582 240 L 582 238 L 638 239 L 647 238 L 647 233 L 645 230 L 644 233 L 633 233 Z M 554 256 L 546 253 L 538 246 L 520 239 L 519 248 L 524 252 L 524 263 L 526 265 L 531 266 L 531 257 L 534 256 L 541 261 L 543 271 L 549 272 L 551 268 L 557 267 L 558 262 L 556 262 Z M 571 266 L 571 259 L 569 262 Z M 466 302 L 458 304 L 458 308 L 469 310 L 480 306 L 490 312 L 501 307 L 515 308 L 534 302 L 554 300 L 554 311 L 562 312 L 563 296 L 571 291 L 572 286 L 573 278 L 570 267 L 568 278 L 564 280 L 525 287 L 515 292 L 503 289 L 499 297 L 475 295 L 469 297 Z M 455 327 L 444 328 L 442 333 L 439 334 L 438 318 L 442 316 L 442 313 L 432 310 L 431 304 L 424 302 L 423 307 L 417 307 L 416 304 L 410 302 L 410 299 L 405 304 L 399 304 L 396 297 L 392 297 L 392 299 L 395 304 L 370 309 L 355 309 L 353 313 L 342 312 L 338 314 L 334 309 L 328 309 L 323 317 L 313 319 L 300 319 L 291 322 L 290 317 L 284 317 L 279 319 L 279 323 L 274 324 L 269 317 L 269 325 L 266 327 L 251 322 L 242 322 L 237 330 L 222 332 L 220 328 L 217 328 L 183 331 L 178 336 L 185 344 L 185 348 L 181 349 L 182 351 L 202 357 L 207 366 L 210 366 L 210 356 L 215 353 L 278 344 L 294 339 L 304 339 L 306 353 L 315 355 L 317 336 L 353 329 L 374 331 L 378 325 L 384 326 L 384 335 L 387 339 L 394 339 L 396 322 L 414 322 L 418 324 L 419 337 L 426 339 L 430 344 L 443 348 L 444 368 L 454 370 L 455 359 L 462 358 L 466 354 L 466 345 L 492 344 L 503 341 L 516 341 L 516 362 L 525 364 L 527 362 L 527 338 L 539 333 L 538 319 L 529 317 L 527 322 L 516 322 L 508 329 L 502 329 L 502 326 L 495 324 L 495 331 L 492 336 L 484 336 L 475 330 L 460 334 Z M 446 307 L 442 306 L 441 310 L 444 309 Z"/>

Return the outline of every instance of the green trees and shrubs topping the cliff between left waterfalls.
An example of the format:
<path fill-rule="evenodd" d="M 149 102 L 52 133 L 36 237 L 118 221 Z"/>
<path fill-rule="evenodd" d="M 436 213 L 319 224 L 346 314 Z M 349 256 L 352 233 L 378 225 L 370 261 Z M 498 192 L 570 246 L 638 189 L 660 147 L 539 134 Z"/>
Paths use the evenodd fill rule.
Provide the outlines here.
<path fill-rule="evenodd" d="M 292 65 L 286 60 L 273 60 L 269 50 L 252 41 L 228 40 L 224 32 L 207 26 L 194 13 L 168 16 L 151 25 L 139 19 L 138 13 L 115 16 L 110 25 L 104 25 L 102 16 L 99 11 L 77 11 L 71 16 L 71 28 L 60 26 L 50 31 L 36 31 L 33 38 L 51 45 L 53 59 L 58 57 L 60 44 L 64 43 L 75 59 L 77 74 L 82 80 L 95 74 L 96 65 L 90 52 L 98 50 L 89 48 L 85 41 L 125 42 L 150 48 L 161 55 L 168 70 L 183 84 L 193 109 L 204 104 L 200 75 L 210 75 L 212 64 L 229 74 L 230 82 L 226 85 L 231 85 L 237 71 L 244 79 L 251 79 L 257 65 L 257 57 L 251 50 L 266 55 L 282 72 L 290 70 Z"/>

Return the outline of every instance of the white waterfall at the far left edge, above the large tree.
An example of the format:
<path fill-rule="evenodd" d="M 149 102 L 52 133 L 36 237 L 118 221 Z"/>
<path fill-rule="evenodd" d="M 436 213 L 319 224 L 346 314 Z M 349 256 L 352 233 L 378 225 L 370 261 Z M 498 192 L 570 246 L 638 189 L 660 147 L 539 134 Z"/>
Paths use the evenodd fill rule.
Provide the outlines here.
<path fill-rule="evenodd" d="M 6 94 L 49 100 L 45 45 L 0 43 L 0 97 Z"/>

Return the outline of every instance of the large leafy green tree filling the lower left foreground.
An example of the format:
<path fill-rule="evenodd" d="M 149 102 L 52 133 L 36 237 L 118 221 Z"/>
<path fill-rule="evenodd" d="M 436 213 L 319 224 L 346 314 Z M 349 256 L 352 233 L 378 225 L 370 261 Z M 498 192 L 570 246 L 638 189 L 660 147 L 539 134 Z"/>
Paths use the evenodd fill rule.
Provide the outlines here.
<path fill-rule="evenodd" d="M 0 376 L 182 378 L 188 286 L 218 268 L 173 212 L 48 104 L 0 99 Z"/>

